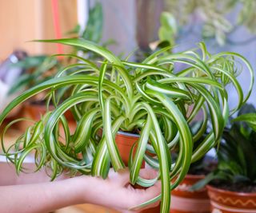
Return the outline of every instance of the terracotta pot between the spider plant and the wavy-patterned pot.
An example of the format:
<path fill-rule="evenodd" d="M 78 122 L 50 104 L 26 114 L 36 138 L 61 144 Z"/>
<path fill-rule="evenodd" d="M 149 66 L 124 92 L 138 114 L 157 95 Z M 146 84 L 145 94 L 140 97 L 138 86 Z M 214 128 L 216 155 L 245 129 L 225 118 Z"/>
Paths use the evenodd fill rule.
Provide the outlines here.
<path fill-rule="evenodd" d="M 171 192 L 171 213 L 209 213 L 210 199 L 206 187 L 190 191 L 190 187 L 205 176 L 186 175 L 182 183 Z"/>

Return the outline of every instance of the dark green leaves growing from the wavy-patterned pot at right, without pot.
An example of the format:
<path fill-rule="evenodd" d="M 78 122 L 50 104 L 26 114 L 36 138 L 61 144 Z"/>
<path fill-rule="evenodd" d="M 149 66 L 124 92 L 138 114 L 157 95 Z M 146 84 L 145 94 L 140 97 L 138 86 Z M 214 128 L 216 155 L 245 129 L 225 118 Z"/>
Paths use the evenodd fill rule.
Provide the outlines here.
<path fill-rule="evenodd" d="M 229 128 L 222 134 L 218 146 L 218 168 L 206 179 L 194 185 L 194 189 L 203 187 L 210 181 L 220 180 L 223 183 L 255 184 L 256 183 L 256 109 L 253 105 L 244 105 L 238 117 L 231 120 Z"/>

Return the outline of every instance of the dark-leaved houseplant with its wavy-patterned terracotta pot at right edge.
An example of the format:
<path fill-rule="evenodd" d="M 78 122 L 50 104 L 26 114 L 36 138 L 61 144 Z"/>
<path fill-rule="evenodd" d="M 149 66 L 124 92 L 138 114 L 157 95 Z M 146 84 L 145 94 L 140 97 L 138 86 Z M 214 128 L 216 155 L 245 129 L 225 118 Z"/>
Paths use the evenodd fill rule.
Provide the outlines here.
<path fill-rule="evenodd" d="M 206 183 L 213 212 L 254 212 L 256 208 L 256 110 L 245 105 L 219 144 L 218 168 L 194 187 Z"/>

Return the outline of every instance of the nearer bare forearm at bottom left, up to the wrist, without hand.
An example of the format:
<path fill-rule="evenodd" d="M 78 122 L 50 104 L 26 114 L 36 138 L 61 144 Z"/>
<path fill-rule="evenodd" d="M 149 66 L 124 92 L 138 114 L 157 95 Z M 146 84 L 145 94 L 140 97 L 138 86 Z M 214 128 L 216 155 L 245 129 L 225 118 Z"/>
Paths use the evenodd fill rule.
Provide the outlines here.
<path fill-rule="evenodd" d="M 78 179 L 0 187 L 0 212 L 50 212 L 83 203 Z"/>

